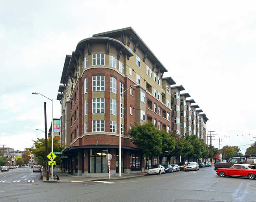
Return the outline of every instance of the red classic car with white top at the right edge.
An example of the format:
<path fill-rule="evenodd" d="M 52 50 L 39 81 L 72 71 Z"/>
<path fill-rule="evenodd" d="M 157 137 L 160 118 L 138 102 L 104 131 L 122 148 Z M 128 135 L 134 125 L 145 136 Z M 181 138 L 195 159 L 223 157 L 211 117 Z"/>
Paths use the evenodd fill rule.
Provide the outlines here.
<path fill-rule="evenodd" d="M 256 176 L 256 167 L 250 164 L 234 164 L 230 168 L 218 168 L 216 174 L 220 177 L 237 176 L 248 177 L 253 180 Z"/>

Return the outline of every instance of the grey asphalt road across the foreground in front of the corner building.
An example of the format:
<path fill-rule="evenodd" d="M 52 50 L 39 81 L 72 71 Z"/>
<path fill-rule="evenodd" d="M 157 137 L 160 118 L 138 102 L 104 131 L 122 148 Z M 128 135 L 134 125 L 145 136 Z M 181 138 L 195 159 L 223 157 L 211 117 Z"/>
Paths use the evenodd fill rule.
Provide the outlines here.
<path fill-rule="evenodd" d="M 24 169 L 23 174 L 22 171 L 12 174 L 13 181 L 16 175 L 23 176 L 22 184 L 0 182 L 0 201 L 256 201 L 256 180 L 221 178 L 213 167 L 107 183 L 43 183 L 41 180 L 31 183 L 28 182 L 33 176 L 31 169 Z M 4 176 L 0 174 L 0 181 L 6 179 Z"/>

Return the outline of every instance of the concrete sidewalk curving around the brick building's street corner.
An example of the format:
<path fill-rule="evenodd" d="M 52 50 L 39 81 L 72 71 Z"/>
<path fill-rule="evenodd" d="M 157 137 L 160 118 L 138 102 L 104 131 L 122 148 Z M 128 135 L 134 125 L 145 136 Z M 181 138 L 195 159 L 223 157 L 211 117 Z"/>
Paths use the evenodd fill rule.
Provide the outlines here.
<path fill-rule="evenodd" d="M 86 177 L 86 176 L 76 176 L 73 174 L 67 174 L 62 171 L 59 171 L 57 169 L 53 169 L 53 178 L 54 175 L 58 175 L 60 180 L 54 180 L 51 178 L 51 175 L 49 174 L 49 181 L 46 180 L 46 175 L 43 173 L 43 182 L 89 182 L 89 181 L 106 181 L 106 180 L 123 180 L 123 179 L 128 179 L 128 178 L 136 178 L 136 177 L 141 177 L 141 176 L 146 176 L 148 173 L 135 173 L 135 174 L 122 174 L 121 177 L 118 176 L 110 176 L 110 179 L 108 176 L 104 177 Z"/>

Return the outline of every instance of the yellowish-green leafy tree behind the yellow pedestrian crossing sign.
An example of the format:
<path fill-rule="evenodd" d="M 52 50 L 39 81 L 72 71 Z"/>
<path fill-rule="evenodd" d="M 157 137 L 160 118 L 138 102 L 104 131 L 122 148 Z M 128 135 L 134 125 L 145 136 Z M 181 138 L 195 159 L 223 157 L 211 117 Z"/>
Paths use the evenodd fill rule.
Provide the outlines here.
<path fill-rule="evenodd" d="M 59 143 L 60 137 L 53 138 L 53 151 L 61 152 L 63 151 L 63 145 Z M 48 153 L 51 151 L 52 146 L 52 138 L 51 136 L 48 138 Z M 26 148 L 27 151 L 31 152 L 35 156 L 35 160 L 38 164 L 45 166 L 46 165 L 46 156 L 45 156 L 45 138 L 37 138 L 34 140 L 33 146 L 31 148 Z M 48 154 L 47 154 L 48 155 Z M 56 156 L 54 159 L 56 161 L 56 165 L 60 165 L 62 163 L 60 156 Z"/>

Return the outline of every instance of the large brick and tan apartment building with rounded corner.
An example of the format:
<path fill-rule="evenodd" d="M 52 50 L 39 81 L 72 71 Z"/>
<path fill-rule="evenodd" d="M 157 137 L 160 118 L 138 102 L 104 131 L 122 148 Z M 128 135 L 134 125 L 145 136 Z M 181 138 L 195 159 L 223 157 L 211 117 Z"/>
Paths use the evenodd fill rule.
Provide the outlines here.
<path fill-rule="evenodd" d="M 189 94 L 181 94 L 181 106 L 178 96 L 185 89 L 171 87 L 176 83 L 172 77 L 164 78 L 164 72 L 167 69 L 131 27 L 78 42 L 75 51 L 65 57 L 57 96 L 62 107 L 65 171 L 79 176 L 107 176 L 106 155 L 110 153 L 111 174 L 119 173 L 119 155 L 121 173 L 140 172 L 144 158 L 127 136 L 135 123 L 152 121 L 159 130 L 183 134 L 189 126 L 192 134 L 192 120 L 201 123 L 201 117 L 196 129 L 205 129 L 206 116 L 199 112 L 196 117 L 192 115 L 192 109 L 196 112 L 193 106 L 186 110 L 191 104 L 186 102 Z M 196 132 L 200 134 L 199 129 Z M 146 161 L 148 168 L 153 163 L 167 163 L 170 158 L 147 157 Z"/>

